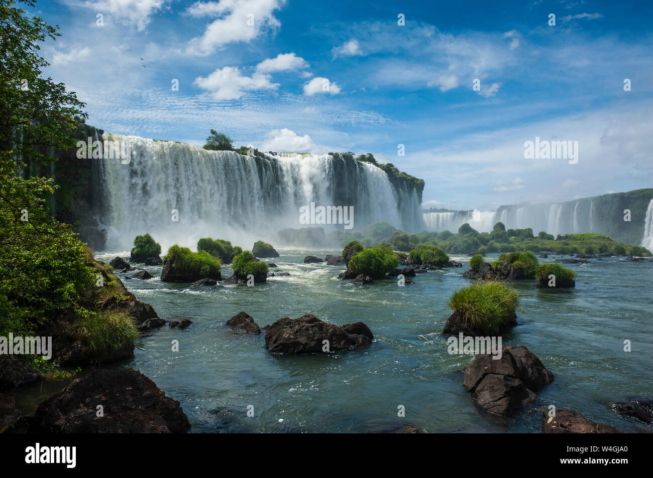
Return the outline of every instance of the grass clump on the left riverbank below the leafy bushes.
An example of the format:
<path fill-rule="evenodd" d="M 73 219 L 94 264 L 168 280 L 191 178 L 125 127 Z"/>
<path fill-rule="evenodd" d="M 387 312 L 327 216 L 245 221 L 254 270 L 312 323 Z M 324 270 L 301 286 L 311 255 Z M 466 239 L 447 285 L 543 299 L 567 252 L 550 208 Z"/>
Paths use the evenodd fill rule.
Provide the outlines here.
<path fill-rule="evenodd" d="M 125 312 L 89 312 L 77 325 L 76 336 L 95 353 L 104 354 L 133 345 L 138 329 Z"/>

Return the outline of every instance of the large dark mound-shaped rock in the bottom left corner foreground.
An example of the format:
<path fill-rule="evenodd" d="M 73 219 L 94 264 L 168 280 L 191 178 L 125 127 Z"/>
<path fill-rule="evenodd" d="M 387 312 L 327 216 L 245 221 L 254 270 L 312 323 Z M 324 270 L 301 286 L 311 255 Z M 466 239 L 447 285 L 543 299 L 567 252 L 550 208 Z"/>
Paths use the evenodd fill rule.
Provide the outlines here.
<path fill-rule="evenodd" d="M 97 406 L 103 417 L 97 417 Z M 191 427 L 180 403 L 129 370 L 93 370 L 39 405 L 29 432 L 183 433 Z"/>

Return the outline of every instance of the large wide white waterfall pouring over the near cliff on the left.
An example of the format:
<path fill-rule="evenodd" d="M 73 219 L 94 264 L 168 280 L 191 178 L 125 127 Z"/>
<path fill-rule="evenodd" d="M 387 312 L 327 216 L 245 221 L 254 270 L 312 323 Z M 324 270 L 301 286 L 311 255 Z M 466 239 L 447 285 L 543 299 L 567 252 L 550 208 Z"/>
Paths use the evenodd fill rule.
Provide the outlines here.
<path fill-rule="evenodd" d="M 272 241 L 281 229 L 313 226 L 300 224 L 300 207 L 311 202 L 353 206 L 353 230 L 382 221 L 410 232 L 423 228 L 417 193 L 393 187 L 370 163 L 330 155 L 248 157 L 106 133 L 103 140 L 131 149 L 130 160 L 94 160 L 107 250 L 129 250 L 146 232 L 164 253 L 174 243 L 195 248 L 201 237 L 247 248 L 256 239 Z"/>

